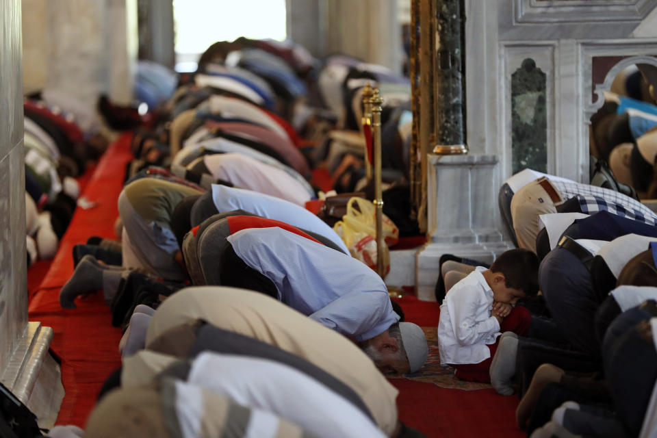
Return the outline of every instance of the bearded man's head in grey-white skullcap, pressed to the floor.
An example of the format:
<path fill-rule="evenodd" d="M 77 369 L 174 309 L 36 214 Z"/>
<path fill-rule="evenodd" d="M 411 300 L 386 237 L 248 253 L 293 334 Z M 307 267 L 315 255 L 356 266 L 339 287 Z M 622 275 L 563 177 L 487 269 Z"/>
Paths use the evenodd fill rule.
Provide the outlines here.
<path fill-rule="evenodd" d="M 385 374 L 420 370 L 428 356 L 424 331 L 412 322 L 396 322 L 383 333 L 361 342 L 360 346 Z"/>

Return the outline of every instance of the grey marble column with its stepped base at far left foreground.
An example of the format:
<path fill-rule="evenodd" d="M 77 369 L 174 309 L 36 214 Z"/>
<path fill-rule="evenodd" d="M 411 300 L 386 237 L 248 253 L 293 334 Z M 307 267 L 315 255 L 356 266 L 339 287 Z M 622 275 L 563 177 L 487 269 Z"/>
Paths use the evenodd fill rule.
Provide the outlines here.
<path fill-rule="evenodd" d="M 50 427 L 64 388 L 52 329 L 27 322 L 20 0 L 0 3 L 0 35 L 0 381 Z"/>

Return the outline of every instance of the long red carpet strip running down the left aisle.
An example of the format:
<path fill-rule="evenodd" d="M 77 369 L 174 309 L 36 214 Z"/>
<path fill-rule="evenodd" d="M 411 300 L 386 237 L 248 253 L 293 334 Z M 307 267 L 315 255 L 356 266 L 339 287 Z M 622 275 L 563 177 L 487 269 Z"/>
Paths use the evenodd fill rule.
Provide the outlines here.
<path fill-rule="evenodd" d="M 114 238 L 114 220 L 118 216 L 116 200 L 121 190 L 125 164 L 131 159 L 130 136 L 124 135 L 110 146 L 94 170 L 82 196 L 96 202 L 88 210 L 78 208 L 60 249 L 51 261 L 47 274 L 33 294 L 35 279 L 42 276 L 49 261 L 37 262 L 29 270 L 31 282 L 29 320 L 40 321 L 53 328 L 55 336 L 51 350 L 62 361 L 62 381 L 66 396 L 57 417 L 57 424 L 84 426 L 94 407 L 105 378 L 118 366 L 120 329 L 112 327 L 110 310 L 101 294 L 77 300 L 78 308 L 60 307 L 60 287 L 73 273 L 71 250 L 86 242 L 90 235 Z"/>

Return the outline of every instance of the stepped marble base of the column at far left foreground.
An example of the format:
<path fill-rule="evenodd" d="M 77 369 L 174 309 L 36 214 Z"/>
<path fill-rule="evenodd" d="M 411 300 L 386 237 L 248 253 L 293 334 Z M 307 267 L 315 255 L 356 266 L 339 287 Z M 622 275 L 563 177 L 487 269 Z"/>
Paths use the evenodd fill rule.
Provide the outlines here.
<path fill-rule="evenodd" d="M 60 365 L 49 352 L 53 329 L 28 322 L 0 378 L 36 415 L 39 427 L 52 428 L 64 399 Z"/>

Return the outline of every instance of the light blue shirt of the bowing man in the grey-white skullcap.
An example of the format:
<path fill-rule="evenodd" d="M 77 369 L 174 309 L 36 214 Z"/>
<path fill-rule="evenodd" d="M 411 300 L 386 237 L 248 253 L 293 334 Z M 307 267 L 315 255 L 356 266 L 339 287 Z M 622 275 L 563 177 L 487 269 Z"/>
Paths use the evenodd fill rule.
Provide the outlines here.
<path fill-rule="evenodd" d="M 399 320 L 381 277 L 357 259 L 278 227 L 244 229 L 228 241 L 274 283 L 279 300 L 346 337 L 371 339 Z"/>

